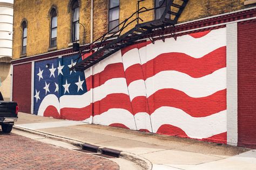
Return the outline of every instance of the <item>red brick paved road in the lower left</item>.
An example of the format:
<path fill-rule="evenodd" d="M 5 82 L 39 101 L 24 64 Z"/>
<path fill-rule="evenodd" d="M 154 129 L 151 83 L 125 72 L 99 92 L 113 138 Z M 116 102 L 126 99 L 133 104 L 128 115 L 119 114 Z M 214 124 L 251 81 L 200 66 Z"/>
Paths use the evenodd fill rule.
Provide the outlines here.
<path fill-rule="evenodd" d="M 0 132 L 0 169 L 119 169 L 110 160 Z"/>

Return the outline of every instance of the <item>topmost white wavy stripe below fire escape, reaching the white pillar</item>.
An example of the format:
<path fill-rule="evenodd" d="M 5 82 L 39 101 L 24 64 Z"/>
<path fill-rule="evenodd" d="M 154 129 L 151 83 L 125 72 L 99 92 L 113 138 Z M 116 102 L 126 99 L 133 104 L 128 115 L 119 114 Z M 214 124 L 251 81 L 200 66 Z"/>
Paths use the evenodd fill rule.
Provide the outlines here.
<path fill-rule="evenodd" d="M 212 30 L 206 36 L 193 38 L 191 36 L 181 36 L 177 41 L 173 38 L 156 41 L 154 44 L 147 45 L 147 61 L 156 58 L 163 53 L 178 52 L 190 55 L 193 58 L 202 56 L 214 51 L 217 48 L 226 46 L 226 29 Z M 157 50 L 156 50 L 157 49 Z"/>

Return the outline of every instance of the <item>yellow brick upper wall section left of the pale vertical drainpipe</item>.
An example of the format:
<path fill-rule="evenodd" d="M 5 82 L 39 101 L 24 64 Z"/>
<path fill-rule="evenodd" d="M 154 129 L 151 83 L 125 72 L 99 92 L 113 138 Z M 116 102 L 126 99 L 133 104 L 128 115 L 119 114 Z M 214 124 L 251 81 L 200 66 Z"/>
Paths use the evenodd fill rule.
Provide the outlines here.
<path fill-rule="evenodd" d="M 57 49 L 68 48 L 71 42 L 71 13 L 68 11 L 69 1 L 15 1 L 14 2 L 14 40 L 13 58 L 21 56 L 23 18 L 28 20 L 28 36 L 26 56 L 48 52 L 50 41 L 50 18 L 48 17 L 52 5 L 57 6 Z M 85 26 L 85 42 L 90 42 L 90 1 L 81 1 L 80 23 Z M 40 13 L 40 15 L 38 15 Z M 80 26 L 80 43 L 83 42 L 83 27 Z"/>

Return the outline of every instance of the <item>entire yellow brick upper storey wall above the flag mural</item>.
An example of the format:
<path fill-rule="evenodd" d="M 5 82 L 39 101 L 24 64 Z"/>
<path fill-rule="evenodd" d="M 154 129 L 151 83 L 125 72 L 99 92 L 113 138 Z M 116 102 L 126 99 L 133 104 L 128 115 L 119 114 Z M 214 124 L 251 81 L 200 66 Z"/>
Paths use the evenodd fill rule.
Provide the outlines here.
<path fill-rule="evenodd" d="M 175 0 L 177 4 L 179 0 Z M 48 53 L 71 46 L 71 0 L 16 0 L 14 2 L 14 41 L 13 59 Z M 79 23 L 85 26 L 85 44 L 90 43 L 107 32 L 108 9 L 107 0 L 79 0 Z M 245 5 L 245 0 L 190 0 L 185 10 L 180 16 L 178 23 L 187 22 L 194 19 L 218 15 L 221 13 L 249 8 L 255 4 Z M 93 8 L 91 8 L 93 5 Z M 55 6 L 57 11 L 57 46 L 50 48 L 50 10 Z M 153 8 L 154 1 L 146 0 L 140 2 L 140 7 Z M 119 2 L 119 23 L 130 17 L 136 11 L 137 1 Z M 135 16 L 134 16 L 135 17 Z M 140 17 L 144 22 L 154 18 L 154 12 L 142 13 Z M 91 19 L 93 22 L 91 22 Z M 28 27 L 28 37 L 26 53 L 22 54 L 22 22 L 26 20 Z M 93 26 L 92 26 L 92 25 Z M 126 31 L 134 24 L 129 25 Z M 80 25 L 80 44 L 83 43 L 83 27 Z M 93 36 L 91 36 L 91 33 Z"/>

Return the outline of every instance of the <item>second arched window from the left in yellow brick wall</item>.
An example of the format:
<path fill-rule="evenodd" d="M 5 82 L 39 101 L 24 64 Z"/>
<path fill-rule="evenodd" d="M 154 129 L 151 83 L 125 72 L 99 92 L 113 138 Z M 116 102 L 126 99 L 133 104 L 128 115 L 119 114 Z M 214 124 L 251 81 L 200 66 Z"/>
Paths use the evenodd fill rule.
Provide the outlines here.
<path fill-rule="evenodd" d="M 57 46 L 57 12 L 55 9 L 51 10 L 51 39 L 50 47 Z"/>

